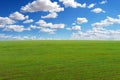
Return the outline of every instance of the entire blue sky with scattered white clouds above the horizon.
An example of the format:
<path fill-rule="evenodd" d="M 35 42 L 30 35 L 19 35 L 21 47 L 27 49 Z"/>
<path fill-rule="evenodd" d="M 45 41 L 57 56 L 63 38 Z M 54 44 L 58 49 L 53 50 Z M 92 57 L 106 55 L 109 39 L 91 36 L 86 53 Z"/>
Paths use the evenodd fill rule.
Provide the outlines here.
<path fill-rule="evenodd" d="M 1 0 L 0 40 L 120 40 L 120 0 Z"/>

